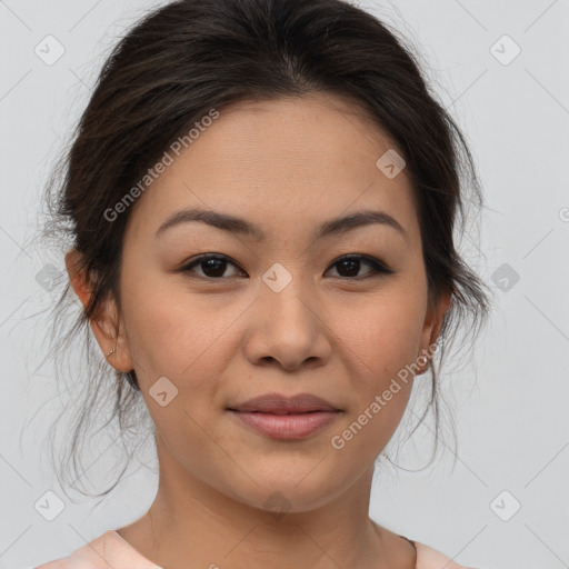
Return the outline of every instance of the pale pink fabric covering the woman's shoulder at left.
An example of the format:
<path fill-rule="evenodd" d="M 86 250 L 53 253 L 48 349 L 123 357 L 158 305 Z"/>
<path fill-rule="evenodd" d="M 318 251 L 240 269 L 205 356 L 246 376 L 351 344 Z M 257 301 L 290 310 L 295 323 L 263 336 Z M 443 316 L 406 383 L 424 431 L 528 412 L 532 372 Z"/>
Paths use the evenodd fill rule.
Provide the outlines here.
<path fill-rule="evenodd" d="M 34 569 L 131 569 L 133 563 L 137 569 L 162 569 L 143 558 L 116 531 L 109 530 L 69 557 L 49 561 Z"/>

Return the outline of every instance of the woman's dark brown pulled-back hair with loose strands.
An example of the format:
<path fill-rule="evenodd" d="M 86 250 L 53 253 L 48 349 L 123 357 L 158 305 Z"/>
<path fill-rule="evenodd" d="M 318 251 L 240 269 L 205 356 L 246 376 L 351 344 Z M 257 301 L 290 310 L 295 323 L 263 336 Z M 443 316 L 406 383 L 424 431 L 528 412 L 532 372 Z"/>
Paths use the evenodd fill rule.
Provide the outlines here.
<path fill-rule="evenodd" d="M 179 0 L 146 16 L 120 40 L 46 192 L 50 219 L 43 237 L 62 237 L 77 249 L 93 283 L 89 306 L 64 338 L 66 309 L 72 305 L 69 283 L 53 308 L 56 360 L 80 331 L 87 347 L 84 379 L 76 380 L 83 400 L 76 409 L 68 453 L 57 459 L 63 473 L 71 459 L 74 473 L 80 471 L 77 455 L 84 429 L 98 418 L 101 393 L 110 393 L 109 421 L 118 419 L 122 435 L 136 433 L 144 415 L 134 370 L 116 372 L 113 379 L 97 345 L 93 360 L 89 320 L 108 298 L 120 310 L 122 243 L 136 203 L 112 222 L 104 212 L 211 109 L 222 112 L 237 101 L 316 92 L 355 101 L 407 163 L 430 301 L 451 293 L 439 362 L 459 329 L 479 331 L 489 310 L 486 286 L 453 242 L 453 231 L 461 234 L 466 227 L 465 203 L 482 204 L 473 159 L 460 130 L 429 92 L 417 57 L 403 44 L 386 23 L 341 0 Z M 431 396 L 420 421 L 432 407 L 438 442 L 435 361 L 430 372 Z"/>

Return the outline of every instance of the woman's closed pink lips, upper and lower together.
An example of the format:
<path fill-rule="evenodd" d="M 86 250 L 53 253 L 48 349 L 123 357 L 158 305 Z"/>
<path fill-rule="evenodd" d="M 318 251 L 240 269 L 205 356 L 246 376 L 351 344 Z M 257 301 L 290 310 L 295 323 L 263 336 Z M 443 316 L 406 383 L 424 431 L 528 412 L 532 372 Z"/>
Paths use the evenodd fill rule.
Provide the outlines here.
<path fill-rule="evenodd" d="M 310 393 L 295 397 L 269 393 L 228 408 L 228 411 L 257 432 L 281 440 L 310 437 L 341 412 L 330 402 Z"/>

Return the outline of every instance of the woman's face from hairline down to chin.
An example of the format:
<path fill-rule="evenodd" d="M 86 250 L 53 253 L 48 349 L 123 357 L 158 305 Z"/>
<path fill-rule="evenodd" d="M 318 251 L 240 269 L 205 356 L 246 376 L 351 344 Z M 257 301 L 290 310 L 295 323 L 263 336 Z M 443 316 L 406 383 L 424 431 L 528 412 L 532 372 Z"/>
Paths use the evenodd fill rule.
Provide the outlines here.
<path fill-rule="evenodd" d="M 446 308 L 427 310 L 410 179 L 393 176 L 389 154 L 377 166 L 391 148 L 338 98 L 239 103 L 170 152 L 131 206 L 126 342 L 109 361 L 134 368 L 170 476 L 263 509 L 280 492 L 306 511 L 372 470 L 408 402 L 402 370 L 429 349 Z M 193 209 L 240 221 L 180 217 L 160 230 Z M 376 221 L 333 223 L 363 211 Z M 197 261 L 206 253 L 226 260 Z M 241 420 L 267 425 L 270 413 L 230 410 L 274 393 L 310 393 L 337 411 L 316 413 L 329 422 L 310 432 L 295 427 L 307 412 L 272 416 L 271 435 Z"/>

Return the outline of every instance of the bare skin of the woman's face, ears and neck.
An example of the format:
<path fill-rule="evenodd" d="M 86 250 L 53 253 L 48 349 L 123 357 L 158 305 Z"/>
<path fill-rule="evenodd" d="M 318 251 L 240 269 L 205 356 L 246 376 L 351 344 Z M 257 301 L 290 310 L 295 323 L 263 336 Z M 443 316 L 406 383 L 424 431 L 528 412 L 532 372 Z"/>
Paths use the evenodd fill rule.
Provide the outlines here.
<path fill-rule="evenodd" d="M 156 425 L 158 493 L 146 516 L 118 530 L 154 563 L 416 566 L 411 545 L 368 515 L 375 460 L 400 422 L 412 378 L 341 450 L 330 443 L 436 341 L 449 301 L 428 307 L 410 178 L 403 169 L 389 179 L 376 167 L 389 148 L 363 111 L 338 97 L 241 102 L 137 200 L 122 252 L 122 313 L 108 302 L 91 326 L 104 355 L 117 347 L 109 363 L 136 370 Z M 267 237 L 203 222 L 154 236 L 187 207 L 238 216 Z M 407 236 L 372 223 L 312 237 L 320 223 L 361 209 L 389 213 Z M 203 253 L 231 262 L 219 277 L 203 263 L 177 271 Z M 350 272 L 337 262 L 348 253 L 395 272 L 373 273 L 365 260 Z M 87 306 L 76 261 L 70 251 L 69 276 Z M 262 280 L 276 262 L 292 277 L 280 292 Z M 178 388 L 164 407 L 149 395 L 161 377 Z M 227 411 L 269 392 L 313 393 L 342 412 L 306 439 L 282 441 Z M 288 501 L 281 517 L 264 503 L 276 491 Z"/>

